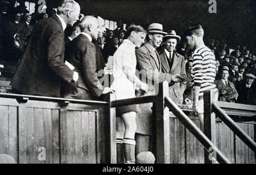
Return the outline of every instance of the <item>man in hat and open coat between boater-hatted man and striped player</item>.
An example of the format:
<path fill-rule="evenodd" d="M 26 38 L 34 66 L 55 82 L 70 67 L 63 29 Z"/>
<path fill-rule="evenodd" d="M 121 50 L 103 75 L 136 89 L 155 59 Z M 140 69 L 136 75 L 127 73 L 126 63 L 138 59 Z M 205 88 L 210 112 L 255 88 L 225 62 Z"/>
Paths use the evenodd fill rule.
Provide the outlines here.
<path fill-rule="evenodd" d="M 180 74 L 182 76 L 187 76 L 185 70 L 185 59 L 175 50 L 177 42 L 179 41 L 180 36 L 177 36 L 176 32 L 173 30 L 169 31 L 167 35 L 163 37 L 164 49 L 159 52 L 162 72 L 172 75 Z M 170 84 L 170 97 L 177 105 L 183 104 L 183 93 L 186 89 L 185 84 L 186 82 L 171 82 Z"/>

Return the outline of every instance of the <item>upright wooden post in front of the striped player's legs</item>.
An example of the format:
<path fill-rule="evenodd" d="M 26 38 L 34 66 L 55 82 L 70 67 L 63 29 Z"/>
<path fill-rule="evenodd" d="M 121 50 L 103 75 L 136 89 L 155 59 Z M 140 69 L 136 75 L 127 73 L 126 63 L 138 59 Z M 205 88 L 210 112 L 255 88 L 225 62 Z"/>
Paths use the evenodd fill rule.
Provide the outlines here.
<path fill-rule="evenodd" d="M 214 145 L 216 145 L 216 118 L 215 113 L 212 112 L 212 103 L 215 100 L 214 91 L 207 91 L 204 92 L 204 134 L 209 138 L 210 141 Z M 212 152 L 213 150 L 205 150 L 204 149 L 204 163 L 205 164 L 213 164 L 216 163 L 216 155 L 212 152 L 212 155 L 209 155 L 209 151 Z"/>

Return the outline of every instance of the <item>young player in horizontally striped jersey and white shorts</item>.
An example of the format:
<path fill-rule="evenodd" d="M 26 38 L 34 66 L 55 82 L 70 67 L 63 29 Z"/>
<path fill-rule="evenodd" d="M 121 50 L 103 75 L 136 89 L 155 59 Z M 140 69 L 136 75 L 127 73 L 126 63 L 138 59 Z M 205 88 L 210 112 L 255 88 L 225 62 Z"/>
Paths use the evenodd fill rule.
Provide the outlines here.
<path fill-rule="evenodd" d="M 187 44 L 192 50 L 195 50 L 192 56 L 192 86 L 193 86 L 193 110 L 197 113 L 200 122 L 204 123 L 204 101 L 203 91 L 214 89 L 217 93 L 214 80 L 216 77 L 216 59 L 207 46 L 205 46 L 203 37 L 204 29 L 201 25 L 189 27 L 185 33 Z M 216 99 L 217 100 L 217 99 Z"/>

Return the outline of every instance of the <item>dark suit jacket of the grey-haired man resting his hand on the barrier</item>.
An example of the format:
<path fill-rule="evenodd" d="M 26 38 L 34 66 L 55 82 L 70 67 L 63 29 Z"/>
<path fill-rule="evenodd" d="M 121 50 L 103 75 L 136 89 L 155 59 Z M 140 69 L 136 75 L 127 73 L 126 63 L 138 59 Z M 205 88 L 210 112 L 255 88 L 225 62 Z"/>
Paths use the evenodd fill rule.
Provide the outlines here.
<path fill-rule="evenodd" d="M 97 97 L 102 95 L 104 88 L 101 86 L 101 83 L 97 77 L 95 45 L 88 39 L 88 37 L 80 34 L 71 41 L 69 46 L 70 47 L 67 48 L 65 59 L 75 67 L 75 71 L 80 75 L 77 87 L 85 89 L 87 94 L 95 97 L 94 99 L 85 100 L 96 100 Z M 73 93 L 68 92 L 70 90 L 72 91 L 72 88 L 66 86 L 69 85 L 65 84 L 63 86 L 64 96 L 67 96 L 68 93 Z M 67 89 L 69 90 L 67 91 Z M 77 95 L 73 96 L 73 98 L 84 99 L 85 97 L 80 97 Z"/>

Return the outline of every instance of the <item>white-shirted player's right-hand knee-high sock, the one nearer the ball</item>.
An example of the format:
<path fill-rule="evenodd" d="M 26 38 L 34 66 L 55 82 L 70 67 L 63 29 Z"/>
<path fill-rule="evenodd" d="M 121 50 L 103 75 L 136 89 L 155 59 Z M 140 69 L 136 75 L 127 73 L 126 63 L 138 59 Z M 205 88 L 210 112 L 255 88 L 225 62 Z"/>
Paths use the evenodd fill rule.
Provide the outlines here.
<path fill-rule="evenodd" d="M 125 151 L 126 163 L 135 163 L 135 145 L 136 142 L 131 138 L 123 138 L 123 148 Z"/>

